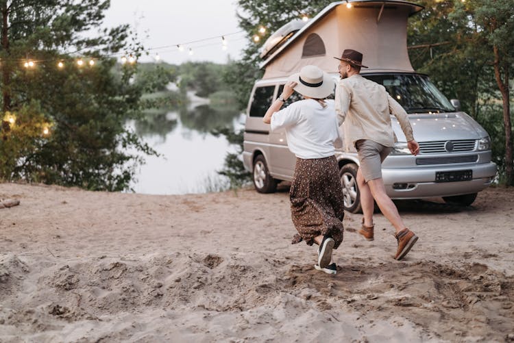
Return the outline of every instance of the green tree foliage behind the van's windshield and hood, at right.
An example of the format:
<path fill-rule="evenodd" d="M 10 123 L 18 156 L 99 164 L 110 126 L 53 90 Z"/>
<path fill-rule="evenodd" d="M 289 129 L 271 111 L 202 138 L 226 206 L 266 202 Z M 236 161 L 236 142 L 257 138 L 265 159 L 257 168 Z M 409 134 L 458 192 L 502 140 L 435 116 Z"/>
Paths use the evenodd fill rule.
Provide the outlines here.
<path fill-rule="evenodd" d="M 504 168 L 512 164 L 512 142 L 507 139 L 511 114 L 505 105 L 509 91 L 502 94 L 498 77 L 509 88 L 509 70 L 514 67 L 512 1 L 419 3 L 425 10 L 408 25 L 409 45 L 418 47 L 409 51 L 413 66 L 430 75 L 445 95 L 461 100 L 463 110 L 491 136 L 493 160 L 511 173 Z"/>

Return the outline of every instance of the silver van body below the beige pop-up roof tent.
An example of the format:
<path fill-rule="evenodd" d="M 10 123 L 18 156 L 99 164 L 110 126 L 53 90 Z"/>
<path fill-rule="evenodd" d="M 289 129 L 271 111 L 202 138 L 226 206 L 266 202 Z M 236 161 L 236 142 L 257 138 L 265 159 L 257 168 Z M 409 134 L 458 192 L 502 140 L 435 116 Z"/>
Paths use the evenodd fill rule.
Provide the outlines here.
<path fill-rule="evenodd" d="M 339 79 L 339 75 L 332 75 Z M 446 202 L 471 205 L 478 192 L 493 182 L 497 170 L 491 162 L 491 140 L 485 129 L 460 111 L 458 101 L 450 103 L 427 75 L 373 72 L 361 75 L 382 84 L 404 107 L 414 138 L 419 142 L 419 155 L 411 155 L 399 123 L 391 117 L 397 143 L 382 164 L 384 185 L 391 199 L 442 197 Z M 271 132 L 269 125 L 262 123 L 262 117 L 282 92 L 285 82 L 285 77 L 256 81 L 247 107 L 243 162 L 261 193 L 274 192 L 278 182 L 293 178 L 296 157 L 287 147 L 285 132 Z M 294 93 L 285 105 L 298 97 Z M 356 151 L 338 150 L 336 158 L 345 209 L 360 212 Z"/>

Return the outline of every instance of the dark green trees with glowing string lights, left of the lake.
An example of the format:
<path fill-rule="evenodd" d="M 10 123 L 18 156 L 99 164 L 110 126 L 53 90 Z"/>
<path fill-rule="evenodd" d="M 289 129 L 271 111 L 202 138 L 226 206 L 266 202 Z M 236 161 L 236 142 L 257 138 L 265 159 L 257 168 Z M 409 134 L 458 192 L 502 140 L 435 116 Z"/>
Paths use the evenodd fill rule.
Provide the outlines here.
<path fill-rule="evenodd" d="M 143 48 L 127 25 L 99 28 L 109 5 L 0 0 L 1 179 L 125 190 L 140 153 L 153 153 L 125 127 L 148 87 L 132 81 L 132 64 L 117 73 L 112 57 Z"/>

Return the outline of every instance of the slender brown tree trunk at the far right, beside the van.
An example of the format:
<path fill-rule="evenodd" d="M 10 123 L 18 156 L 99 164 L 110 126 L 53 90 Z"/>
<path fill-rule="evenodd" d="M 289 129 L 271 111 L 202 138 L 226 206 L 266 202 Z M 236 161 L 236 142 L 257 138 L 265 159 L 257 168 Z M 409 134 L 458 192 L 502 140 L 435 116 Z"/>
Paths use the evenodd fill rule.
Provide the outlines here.
<path fill-rule="evenodd" d="M 507 186 L 514 186 L 513 175 L 513 145 L 512 145 L 512 123 L 511 123 L 511 105 L 509 99 L 509 65 L 504 65 L 504 80 L 502 80 L 500 56 L 498 47 L 494 46 L 494 75 L 500 92 L 502 93 L 503 102 L 503 123 L 505 128 L 505 176 Z"/>

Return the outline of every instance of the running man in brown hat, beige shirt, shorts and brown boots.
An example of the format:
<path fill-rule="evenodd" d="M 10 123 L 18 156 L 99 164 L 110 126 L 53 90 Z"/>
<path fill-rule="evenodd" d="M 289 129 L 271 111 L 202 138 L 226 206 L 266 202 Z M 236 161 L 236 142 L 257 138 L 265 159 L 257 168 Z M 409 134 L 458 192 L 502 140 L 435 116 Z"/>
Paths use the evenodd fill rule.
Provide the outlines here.
<path fill-rule="evenodd" d="M 393 114 L 402 127 L 408 149 L 417 155 L 419 144 L 413 138 L 413 129 L 403 107 L 385 90 L 384 86 L 362 77 L 363 54 L 346 49 L 339 60 L 341 80 L 336 87 L 335 108 L 339 125 L 345 120 L 345 140 L 357 149 L 360 166 L 357 184 L 360 204 L 363 207 L 363 223 L 358 230 L 367 240 L 374 240 L 374 200 L 380 211 L 395 227 L 397 251 L 395 259 L 402 259 L 417 241 L 413 231 L 405 227 L 398 210 L 387 196 L 382 179 L 382 162 L 389 155 L 395 142 L 391 127 Z"/>

